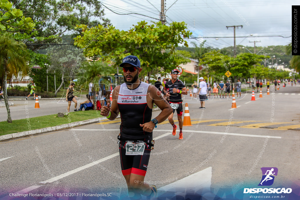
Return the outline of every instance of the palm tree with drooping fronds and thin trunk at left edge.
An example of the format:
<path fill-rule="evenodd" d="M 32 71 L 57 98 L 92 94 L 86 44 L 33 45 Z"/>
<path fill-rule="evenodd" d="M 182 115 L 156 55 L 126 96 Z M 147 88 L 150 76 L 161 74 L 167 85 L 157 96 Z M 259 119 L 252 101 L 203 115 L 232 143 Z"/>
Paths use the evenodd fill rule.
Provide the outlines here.
<path fill-rule="evenodd" d="M 7 110 L 7 122 L 12 123 L 7 101 L 6 81 L 12 76 L 24 78 L 28 71 L 26 45 L 9 32 L 0 32 L 0 78 Z"/>

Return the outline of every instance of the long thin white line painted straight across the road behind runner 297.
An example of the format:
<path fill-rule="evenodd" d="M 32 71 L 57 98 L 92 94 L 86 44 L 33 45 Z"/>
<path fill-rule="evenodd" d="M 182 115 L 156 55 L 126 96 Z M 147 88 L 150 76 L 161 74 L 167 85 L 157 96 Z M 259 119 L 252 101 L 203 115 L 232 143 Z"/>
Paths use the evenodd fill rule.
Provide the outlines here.
<path fill-rule="evenodd" d="M 119 130 L 119 129 L 73 129 L 73 130 L 83 130 L 83 131 L 106 131 L 106 130 Z M 160 132 L 165 132 L 165 131 L 169 131 L 169 130 L 163 130 L 163 129 L 154 129 L 154 132 L 156 131 L 160 131 Z M 250 134 L 240 134 L 240 133 L 225 133 L 225 132 L 214 132 L 214 131 L 201 131 L 201 130 L 182 130 L 182 132 L 191 132 L 191 133 L 211 133 L 211 134 L 219 134 L 219 135 L 232 135 L 232 136 L 246 136 L 246 137 L 258 137 L 258 138 L 266 138 L 267 136 L 263 136 L 263 135 L 250 135 Z M 165 133 L 164 136 L 167 136 L 171 134 L 171 132 L 169 133 Z M 270 138 L 276 138 L 276 139 L 281 139 L 281 137 L 279 136 L 269 136 Z M 158 136 L 156 138 L 161 138 L 161 136 Z M 156 139 L 153 138 L 153 139 Z"/>

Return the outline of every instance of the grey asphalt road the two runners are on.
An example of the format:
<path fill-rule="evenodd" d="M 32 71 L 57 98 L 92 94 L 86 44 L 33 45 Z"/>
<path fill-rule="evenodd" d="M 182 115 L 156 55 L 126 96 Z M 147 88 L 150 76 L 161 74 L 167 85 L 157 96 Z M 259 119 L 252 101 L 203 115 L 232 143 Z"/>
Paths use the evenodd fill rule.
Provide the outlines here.
<path fill-rule="evenodd" d="M 200 190 L 201 184 L 214 194 L 220 188 L 231 188 L 235 193 L 245 187 L 257 187 L 261 167 L 277 167 L 272 187 L 299 184 L 299 94 L 298 85 L 281 87 L 273 95 L 272 91 L 270 95 L 263 91 L 262 98 L 255 93 L 256 101 L 250 101 L 251 94 L 245 94 L 244 98 L 236 98 L 236 109 L 231 109 L 231 100 L 223 98 L 210 98 L 206 109 L 199 109 L 197 100 L 185 98 L 193 126 L 183 127 L 184 139 L 179 140 L 179 134 L 172 136 L 167 121 L 158 124 L 145 181 L 161 188 L 190 180 L 194 189 L 179 185 L 185 193 Z M 56 109 L 55 101 L 49 102 Z M 21 112 L 24 106 L 15 108 L 18 107 Z M 49 114 L 54 112 L 49 106 L 48 110 Z M 158 113 L 154 111 L 152 116 Z M 31 193 L 103 192 L 113 196 L 105 199 L 126 199 L 116 144 L 119 124 L 106 120 L 0 142 L 0 199 L 10 199 L 6 197 L 8 193 L 24 189 Z M 260 160 L 251 169 L 259 155 Z M 207 176 L 195 182 L 191 175 L 201 172 Z M 39 184 L 41 181 L 49 183 Z M 159 190 L 159 194 L 163 196 L 164 191 Z"/>

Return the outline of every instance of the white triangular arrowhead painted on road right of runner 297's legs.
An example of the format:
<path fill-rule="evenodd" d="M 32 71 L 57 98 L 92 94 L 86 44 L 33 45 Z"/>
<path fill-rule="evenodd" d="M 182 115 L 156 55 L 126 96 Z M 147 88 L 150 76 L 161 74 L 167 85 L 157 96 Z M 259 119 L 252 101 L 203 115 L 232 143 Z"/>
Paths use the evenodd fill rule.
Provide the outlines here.
<path fill-rule="evenodd" d="M 196 172 L 187 177 L 184 177 L 174 183 L 165 185 L 158 190 L 170 191 L 170 192 L 182 192 L 195 193 L 196 191 L 203 188 L 210 188 L 212 168 L 208 167 L 200 172 Z"/>

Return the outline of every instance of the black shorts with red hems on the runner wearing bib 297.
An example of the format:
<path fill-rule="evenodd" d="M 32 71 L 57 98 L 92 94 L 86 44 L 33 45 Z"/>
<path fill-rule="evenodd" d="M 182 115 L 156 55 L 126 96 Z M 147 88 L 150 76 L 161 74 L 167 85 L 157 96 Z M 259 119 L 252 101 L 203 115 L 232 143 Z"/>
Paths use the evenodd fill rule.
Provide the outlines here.
<path fill-rule="evenodd" d="M 119 153 L 120 153 L 120 161 L 121 161 L 121 169 L 122 174 L 130 175 L 137 174 L 145 176 L 148 168 L 151 146 L 149 142 L 152 141 L 151 138 L 147 138 L 145 140 L 146 146 L 143 155 L 126 155 L 125 141 L 121 141 L 119 145 Z"/>

